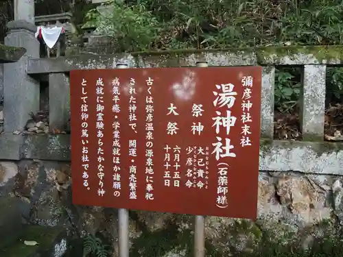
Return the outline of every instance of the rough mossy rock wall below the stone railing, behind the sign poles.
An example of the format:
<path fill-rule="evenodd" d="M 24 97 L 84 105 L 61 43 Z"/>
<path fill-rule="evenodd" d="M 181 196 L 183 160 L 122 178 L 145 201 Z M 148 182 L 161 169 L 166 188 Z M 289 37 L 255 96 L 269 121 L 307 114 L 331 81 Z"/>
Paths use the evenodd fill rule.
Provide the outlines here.
<path fill-rule="evenodd" d="M 54 245 L 67 243 L 61 251 L 68 254 L 75 254 L 69 247 L 75 247 L 78 254 L 82 252 L 78 236 L 87 233 L 100 232 L 108 243 L 111 238 L 117 240 L 116 210 L 73 206 L 70 175 L 66 162 L 0 162 L 0 204 L 2 210 L 11 206 L 0 215 L 1 236 L 42 243 L 40 234 L 31 234 L 32 231 L 49 232 Z M 264 252 L 266 246 L 280 251 L 279 256 L 286 256 L 288 249 L 284 247 L 289 244 L 310 249 L 320 240 L 330 240 L 326 247 L 331 247 L 340 239 L 335 224 L 343 217 L 341 200 L 339 176 L 261 172 L 257 221 L 206 217 L 208 256 L 255 256 L 259 251 L 263 256 L 274 256 Z M 132 256 L 191 256 L 187 255 L 193 241 L 193 217 L 189 215 L 132 211 L 130 228 Z M 27 247 L 27 255 L 16 255 L 19 244 L 5 246 L 11 254 L 7 256 L 30 256 L 27 253 L 33 251 Z M 44 249 L 54 252 L 48 246 L 45 244 Z"/>

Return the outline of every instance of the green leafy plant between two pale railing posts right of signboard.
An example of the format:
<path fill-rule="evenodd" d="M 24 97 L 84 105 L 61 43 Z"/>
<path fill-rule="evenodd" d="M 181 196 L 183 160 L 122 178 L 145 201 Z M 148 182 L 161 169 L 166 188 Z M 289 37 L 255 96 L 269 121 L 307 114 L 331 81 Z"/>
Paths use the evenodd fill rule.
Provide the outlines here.
<path fill-rule="evenodd" d="M 289 69 L 285 71 L 276 69 L 275 106 L 280 112 L 292 112 L 298 103 L 300 83 L 294 80 L 295 76 L 291 72 L 292 70 Z"/>

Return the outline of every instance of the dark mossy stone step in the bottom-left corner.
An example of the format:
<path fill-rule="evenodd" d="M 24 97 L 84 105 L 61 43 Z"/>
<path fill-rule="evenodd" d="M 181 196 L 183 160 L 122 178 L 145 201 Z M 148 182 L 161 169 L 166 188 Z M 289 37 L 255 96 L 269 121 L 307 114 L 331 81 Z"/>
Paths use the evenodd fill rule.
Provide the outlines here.
<path fill-rule="evenodd" d="M 5 245 L 0 240 L 0 256 L 5 257 L 45 257 L 44 253 L 54 249 L 54 241 L 61 228 L 47 228 L 38 225 L 26 225 L 20 235 Z M 24 241 L 36 241 L 38 245 L 25 245 Z"/>

